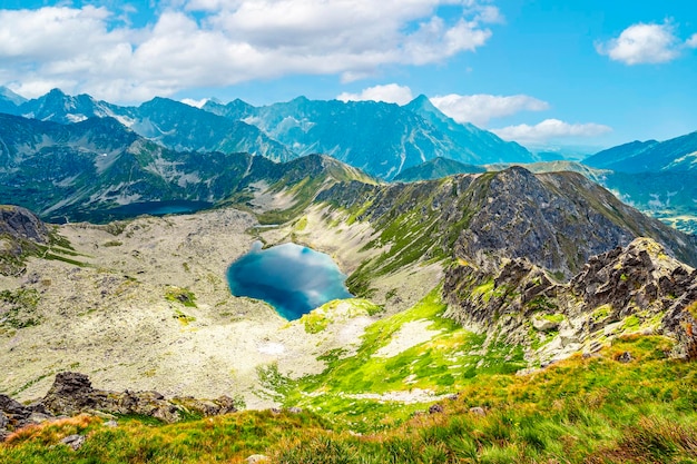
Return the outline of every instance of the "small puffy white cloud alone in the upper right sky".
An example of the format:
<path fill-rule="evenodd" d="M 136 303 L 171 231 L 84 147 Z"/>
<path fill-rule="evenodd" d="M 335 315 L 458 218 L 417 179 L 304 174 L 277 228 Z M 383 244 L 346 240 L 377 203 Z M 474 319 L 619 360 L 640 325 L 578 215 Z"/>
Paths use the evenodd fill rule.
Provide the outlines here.
<path fill-rule="evenodd" d="M 686 45 L 695 41 L 693 36 Z M 606 43 L 597 43 L 596 50 L 600 55 L 607 55 L 613 61 L 626 65 L 661 63 L 679 57 L 683 42 L 675 36 L 673 24 L 664 22 L 639 22 L 625 29 L 617 39 Z"/>

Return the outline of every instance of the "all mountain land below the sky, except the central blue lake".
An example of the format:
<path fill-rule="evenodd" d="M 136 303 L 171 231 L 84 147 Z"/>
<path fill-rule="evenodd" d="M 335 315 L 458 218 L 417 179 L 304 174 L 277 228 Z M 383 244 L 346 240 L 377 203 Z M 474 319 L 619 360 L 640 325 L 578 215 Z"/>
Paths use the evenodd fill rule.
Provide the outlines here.
<path fill-rule="evenodd" d="M 0 109 L 0 461 L 696 458 L 689 137 L 644 172 L 619 167 L 661 142 L 532 164 L 425 97 Z M 200 210 L 119 209 L 163 201 Z M 233 296 L 258 243 L 330 255 L 354 297 Z"/>

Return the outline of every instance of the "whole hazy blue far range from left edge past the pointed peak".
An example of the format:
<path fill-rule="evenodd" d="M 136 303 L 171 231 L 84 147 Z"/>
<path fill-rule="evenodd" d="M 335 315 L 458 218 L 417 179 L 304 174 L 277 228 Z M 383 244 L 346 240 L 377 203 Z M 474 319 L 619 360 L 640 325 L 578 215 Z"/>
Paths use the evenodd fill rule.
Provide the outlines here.
<path fill-rule="evenodd" d="M 6 112 L 60 124 L 114 117 L 175 150 L 246 151 L 276 161 L 326 154 L 384 179 L 439 156 L 469 164 L 537 159 L 516 142 L 455 122 L 423 96 L 403 107 L 300 97 L 258 108 L 242 100 L 225 106 L 208 101 L 198 109 L 164 98 L 119 107 L 53 89 L 29 101 L 3 97 L 0 101 Z"/>

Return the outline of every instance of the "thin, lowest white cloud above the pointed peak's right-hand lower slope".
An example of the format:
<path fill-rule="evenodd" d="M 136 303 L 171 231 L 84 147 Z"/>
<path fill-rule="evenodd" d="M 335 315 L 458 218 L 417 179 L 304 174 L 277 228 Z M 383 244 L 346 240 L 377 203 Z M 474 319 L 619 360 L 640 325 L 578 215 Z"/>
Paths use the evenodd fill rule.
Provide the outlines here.
<path fill-rule="evenodd" d="M 546 119 L 536 126 L 519 125 L 502 129 L 492 129 L 492 132 L 505 140 L 526 142 L 544 142 L 550 139 L 569 137 L 598 137 L 612 130 L 609 126 L 595 122 L 569 124 L 559 119 Z"/>

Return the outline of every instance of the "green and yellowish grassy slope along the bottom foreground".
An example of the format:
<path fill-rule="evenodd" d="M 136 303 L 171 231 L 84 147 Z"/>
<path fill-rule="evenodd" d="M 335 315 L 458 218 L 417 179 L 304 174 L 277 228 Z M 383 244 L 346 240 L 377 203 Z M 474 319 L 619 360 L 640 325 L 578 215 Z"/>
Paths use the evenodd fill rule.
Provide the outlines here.
<path fill-rule="evenodd" d="M 374 417 L 382 430 L 363 435 L 307 412 L 174 425 L 124 417 L 117 427 L 80 416 L 13 435 L 0 462 L 240 463 L 262 453 L 305 464 L 695 463 L 697 371 L 669 349 L 666 338 L 634 336 L 530 375 L 485 374 L 430 412 Z M 75 433 L 87 435 L 80 450 L 58 444 Z"/>

